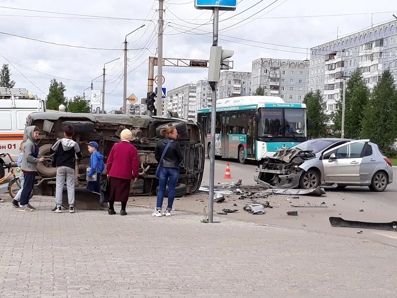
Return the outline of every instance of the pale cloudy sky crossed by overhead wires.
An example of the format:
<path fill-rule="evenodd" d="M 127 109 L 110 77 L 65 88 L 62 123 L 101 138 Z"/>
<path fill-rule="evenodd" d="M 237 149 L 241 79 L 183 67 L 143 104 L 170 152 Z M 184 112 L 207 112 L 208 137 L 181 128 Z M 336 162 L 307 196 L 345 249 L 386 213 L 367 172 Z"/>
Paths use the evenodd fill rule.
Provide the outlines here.
<path fill-rule="evenodd" d="M 369 0 L 274 1 L 239 0 L 236 11 L 220 12 L 219 45 L 235 50 L 235 71 L 250 72 L 251 62 L 256 58 L 304 59 L 305 48 L 335 39 L 337 31 L 339 37 L 348 35 L 370 27 L 371 16 L 377 24 L 391 20 L 392 12 L 397 12 L 397 2 L 390 0 L 378 0 L 376 6 Z M 3 0 L 0 6 L 0 54 L 13 64 L 10 68 L 12 79 L 17 82 L 15 87 L 27 88 L 44 99 L 54 76 L 65 83 L 68 97 L 82 95 L 91 80 L 102 74 L 104 63 L 121 57 L 106 65 L 105 87 L 105 109 L 119 108 L 123 104 L 124 60 L 118 49 L 126 34 L 145 24 L 128 37 L 128 48 L 132 50 L 128 52 L 127 96 L 146 96 L 147 60 L 157 51 L 158 0 Z M 212 39 L 203 34 L 212 32 L 212 12 L 196 10 L 192 0 L 165 0 L 164 8 L 164 57 L 208 59 Z M 0 64 L 8 63 L 2 56 Z M 163 87 L 170 90 L 195 83 L 204 79 L 207 72 L 165 67 Z M 94 80 L 94 89 L 102 89 L 102 77 Z M 90 90 L 85 94 L 89 98 Z"/>

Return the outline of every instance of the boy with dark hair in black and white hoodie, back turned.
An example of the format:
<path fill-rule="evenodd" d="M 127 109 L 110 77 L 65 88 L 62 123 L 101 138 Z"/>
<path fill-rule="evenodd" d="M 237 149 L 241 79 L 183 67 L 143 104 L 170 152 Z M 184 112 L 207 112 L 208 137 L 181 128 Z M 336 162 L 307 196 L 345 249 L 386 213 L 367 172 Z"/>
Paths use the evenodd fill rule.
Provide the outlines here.
<path fill-rule="evenodd" d="M 71 125 L 64 127 L 64 139 L 58 139 L 50 149 L 50 154 L 54 154 L 56 164 L 56 206 L 51 212 L 61 213 L 62 192 L 66 180 L 67 199 L 69 201 L 69 213 L 74 213 L 75 202 L 75 163 L 76 155 L 80 159 L 83 157 L 79 144 L 72 140 L 74 128 Z"/>

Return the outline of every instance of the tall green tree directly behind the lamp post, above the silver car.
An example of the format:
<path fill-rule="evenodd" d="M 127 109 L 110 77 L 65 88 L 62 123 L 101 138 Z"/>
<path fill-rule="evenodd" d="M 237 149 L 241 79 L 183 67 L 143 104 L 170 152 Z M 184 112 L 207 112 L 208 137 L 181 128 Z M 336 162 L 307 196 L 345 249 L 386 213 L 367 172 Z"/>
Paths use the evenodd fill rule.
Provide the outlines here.
<path fill-rule="evenodd" d="M 361 70 L 356 68 L 346 84 L 345 99 L 345 137 L 348 139 L 359 139 L 361 124 L 364 119 L 364 109 L 370 97 L 370 91 L 364 84 Z M 341 92 L 339 109 L 334 115 L 334 129 L 342 129 L 342 98 Z"/>

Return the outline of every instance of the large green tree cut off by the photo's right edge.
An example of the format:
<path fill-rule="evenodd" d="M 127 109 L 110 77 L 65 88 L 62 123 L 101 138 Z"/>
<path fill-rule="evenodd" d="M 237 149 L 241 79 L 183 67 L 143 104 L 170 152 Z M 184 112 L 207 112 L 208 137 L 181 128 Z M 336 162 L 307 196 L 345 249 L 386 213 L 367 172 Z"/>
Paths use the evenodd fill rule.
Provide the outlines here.
<path fill-rule="evenodd" d="M 361 137 L 385 150 L 397 137 L 397 91 L 390 70 L 375 85 L 364 110 Z"/>

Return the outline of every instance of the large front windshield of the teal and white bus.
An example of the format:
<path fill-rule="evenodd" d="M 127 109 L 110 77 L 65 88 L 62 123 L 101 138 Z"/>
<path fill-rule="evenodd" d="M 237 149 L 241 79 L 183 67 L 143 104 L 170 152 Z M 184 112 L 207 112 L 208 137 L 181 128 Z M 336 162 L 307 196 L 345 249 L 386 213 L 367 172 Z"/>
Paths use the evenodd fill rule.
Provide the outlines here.
<path fill-rule="evenodd" d="M 306 137 L 304 109 L 260 108 L 258 137 Z"/>

